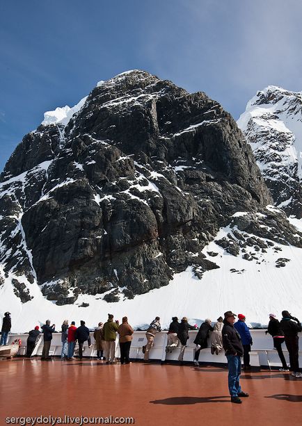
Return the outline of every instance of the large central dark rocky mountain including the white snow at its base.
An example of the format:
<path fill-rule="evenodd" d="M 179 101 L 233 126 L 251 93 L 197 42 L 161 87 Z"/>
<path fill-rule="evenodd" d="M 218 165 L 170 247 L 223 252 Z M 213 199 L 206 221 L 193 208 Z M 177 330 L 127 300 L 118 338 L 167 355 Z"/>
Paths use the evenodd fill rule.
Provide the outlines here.
<path fill-rule="evenodd" d="M 205 93 L 139 70 L 102 81 L 45 113 L 1 174 L 0 313 L 15 331 L 109 312 L 134 326 L 299 316 L 302 229 L 271 203 Z"/>

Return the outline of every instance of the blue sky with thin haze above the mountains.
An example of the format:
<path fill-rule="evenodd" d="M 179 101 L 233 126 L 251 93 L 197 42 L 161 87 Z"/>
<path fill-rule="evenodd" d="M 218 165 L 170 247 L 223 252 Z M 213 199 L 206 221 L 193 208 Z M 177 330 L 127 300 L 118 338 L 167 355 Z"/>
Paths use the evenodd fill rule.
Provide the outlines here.
<path fill-rule="evenodd" d="M 56 106 L 145 69 L 237 119 L 267 85 L 302 90 L 301 0 L 2 0 L 0 170 Z"/>

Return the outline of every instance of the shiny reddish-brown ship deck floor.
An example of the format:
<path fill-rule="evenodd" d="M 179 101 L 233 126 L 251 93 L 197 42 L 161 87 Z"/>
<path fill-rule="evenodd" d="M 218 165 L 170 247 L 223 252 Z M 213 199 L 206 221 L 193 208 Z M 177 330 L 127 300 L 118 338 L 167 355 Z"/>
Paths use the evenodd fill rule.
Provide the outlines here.
<path fill-rule="evenodd" d="M 0 361 L 0 422 L 8 416 L 130 416 L 136 425 L 302 425 L 302 379 L 246 372 L 231 404 L 221 367 L 102 361 Z"/>

